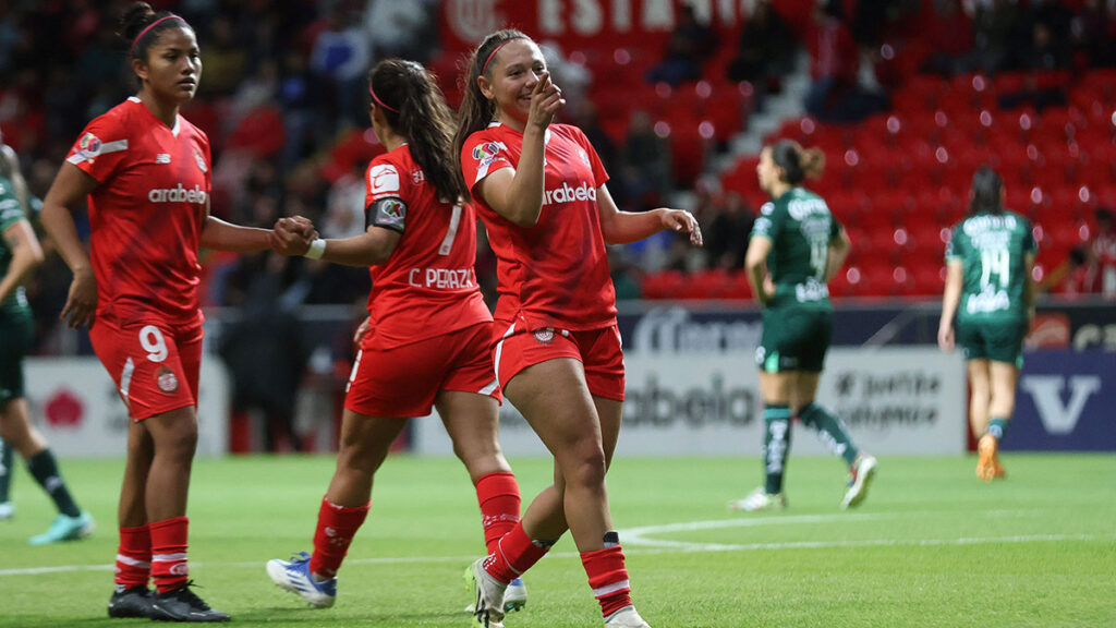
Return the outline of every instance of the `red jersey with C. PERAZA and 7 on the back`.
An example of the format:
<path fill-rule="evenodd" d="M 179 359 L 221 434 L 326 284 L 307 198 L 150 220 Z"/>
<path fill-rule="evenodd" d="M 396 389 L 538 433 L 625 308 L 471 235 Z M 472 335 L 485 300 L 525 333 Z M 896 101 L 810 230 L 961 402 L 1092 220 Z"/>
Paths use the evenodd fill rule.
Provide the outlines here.
<path fill-rule="evenodd" d="M 473 272 L 473 207 L 440 200 L 406 144 L 372 160 L 365 182 L 367 223 L 402 234 L 368 269 L 369 341 L 393 348 L 491 321 Z"/>

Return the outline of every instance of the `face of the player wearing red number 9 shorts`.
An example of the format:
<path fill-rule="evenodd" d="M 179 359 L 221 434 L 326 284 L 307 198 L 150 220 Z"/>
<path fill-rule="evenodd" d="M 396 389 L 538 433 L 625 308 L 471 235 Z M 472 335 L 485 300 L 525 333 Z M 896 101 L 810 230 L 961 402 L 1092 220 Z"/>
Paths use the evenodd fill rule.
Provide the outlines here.
<path fill-rule="evenodd" d="M 189 27 L 169 28 L 147 47 L 146 59 L 132 67 L 144 89 L 161 101 L 184 104 L 194 97 L 202 77 L 198 39 Z"/>

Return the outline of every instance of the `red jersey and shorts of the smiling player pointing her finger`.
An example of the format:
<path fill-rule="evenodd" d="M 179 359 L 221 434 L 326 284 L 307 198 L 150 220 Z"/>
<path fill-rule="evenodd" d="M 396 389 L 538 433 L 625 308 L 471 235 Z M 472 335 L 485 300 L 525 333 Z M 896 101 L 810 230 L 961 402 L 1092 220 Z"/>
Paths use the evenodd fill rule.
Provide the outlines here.
<path fill-rule="evenodd" d="M 597 209 L 597 189 L 608 174 L 579 129 L 551 124 L 541 213 L 533 227 L 519 227 L 479 198 L 475 187 L 493 172 L 516 168 L 522 142 L 519 131 L 492 124 L 470 135 L 461 152 L 465 184 L 499 259 L 499 380 L 507 383 L 546 360 L 574 358 L 585 365 L 593 394 L 623 399 L 616 292 Z"/>

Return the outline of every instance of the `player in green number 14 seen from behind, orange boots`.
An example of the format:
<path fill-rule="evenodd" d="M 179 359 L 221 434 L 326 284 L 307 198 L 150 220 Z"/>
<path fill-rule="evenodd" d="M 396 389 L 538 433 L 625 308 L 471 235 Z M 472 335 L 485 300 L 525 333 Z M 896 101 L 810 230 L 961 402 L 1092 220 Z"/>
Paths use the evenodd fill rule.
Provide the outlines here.
<path fill-rule="evenodd" d="M 1016 409 L 1023 336 L 1035 316 L 1037 246 L 1029 220 L 1003 209 L 1003 180 L 992 169 L 973 174 L 969 213 L 945 248 L 945 294 L 937 344 L 960 344 L 969 370 L 969 422 L 979 440 L 977 476 L 1004 477 L 998 451 Z M 954 315 L 956 330 L 954 331 Z"/>

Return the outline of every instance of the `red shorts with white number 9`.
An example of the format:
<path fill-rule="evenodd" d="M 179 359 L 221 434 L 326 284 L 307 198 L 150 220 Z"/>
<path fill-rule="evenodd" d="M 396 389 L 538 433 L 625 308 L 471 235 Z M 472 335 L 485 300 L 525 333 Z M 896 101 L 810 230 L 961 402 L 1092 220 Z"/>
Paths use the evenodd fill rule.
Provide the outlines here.
<path fill-rule="evenodd" d="M 132 420 L 198 406 L 202 325 L 140 321 L 118 325 L 97 318 L 89 330 L 93 350 L 116 383 Z"/>

